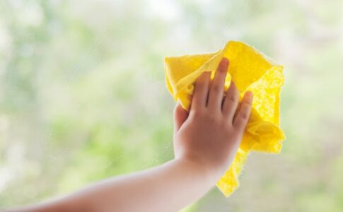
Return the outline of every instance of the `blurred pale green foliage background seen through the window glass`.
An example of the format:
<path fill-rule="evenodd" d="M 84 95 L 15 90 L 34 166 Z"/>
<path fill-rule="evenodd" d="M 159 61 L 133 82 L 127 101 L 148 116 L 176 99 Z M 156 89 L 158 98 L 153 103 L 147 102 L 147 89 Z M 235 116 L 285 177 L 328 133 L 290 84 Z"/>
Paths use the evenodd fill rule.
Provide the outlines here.
<path fill-rule="evenodd" d="M 341 211 L 342 5 L 0 0 L 0 207 L 173 158 L 163 57 L 243 40 L 285 67 L 287 140 L 185 211 Z"/>

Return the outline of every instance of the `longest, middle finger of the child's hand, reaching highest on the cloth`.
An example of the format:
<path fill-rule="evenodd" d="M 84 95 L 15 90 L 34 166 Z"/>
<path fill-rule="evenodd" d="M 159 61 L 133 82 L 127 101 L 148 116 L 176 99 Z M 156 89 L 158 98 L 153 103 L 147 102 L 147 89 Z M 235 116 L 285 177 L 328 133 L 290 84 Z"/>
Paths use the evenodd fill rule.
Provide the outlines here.
<path fill-rule="evenodd" d="M 223 91 L 225 85 L 226 73 L 228 73 L 228 59 L 223 57 L 219 63 L 214 79 L 209 90 L 209 101 L 207 107 L 209 110 L 221 110 L 221 102 L 223 100 Z"/>

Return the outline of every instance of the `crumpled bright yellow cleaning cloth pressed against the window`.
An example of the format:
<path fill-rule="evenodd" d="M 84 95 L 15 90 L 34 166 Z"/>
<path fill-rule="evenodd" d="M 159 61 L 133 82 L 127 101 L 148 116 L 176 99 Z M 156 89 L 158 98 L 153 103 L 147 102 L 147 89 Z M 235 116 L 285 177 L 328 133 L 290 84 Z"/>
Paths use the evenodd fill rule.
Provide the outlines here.
<path fill-rule="evenodd" d="M 275 64 L 257 49 L 239 41 L 230 41 L 218 52 L 211 54 L 165 57 L 165 83 L 175 101 L 185 110 L 190 109 L 194 82 L 204 71 L 214 76 L 219 61 L 230 61 L 226 89 L 232 81 L 242 98 L 245 90 L 254 94 L 252 112 L 236 158 L 217 186 L 229 196 L 238 186 L 238 175 L 250 151 L 279 153 L 285 139 L 279 126 L 279 93 L 284 84 L 283 67 Z"/>

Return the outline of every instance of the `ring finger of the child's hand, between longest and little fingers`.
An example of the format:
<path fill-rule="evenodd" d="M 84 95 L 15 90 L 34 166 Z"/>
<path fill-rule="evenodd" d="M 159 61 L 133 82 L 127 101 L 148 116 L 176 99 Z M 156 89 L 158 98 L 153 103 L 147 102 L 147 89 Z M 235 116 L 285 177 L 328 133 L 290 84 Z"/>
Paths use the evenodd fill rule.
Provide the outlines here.
<path fill-rule="evenodd" d="M 235 116 L 235 112 L 237 110 L 239 102 L 239 92 L 237 87 L 233 81 L 230 83 L 230 88 L 226 91 L 226 98 L 223 102 L 223 115 L 228 119 L 230 123 L 233 121 L 233 117 Z"/>

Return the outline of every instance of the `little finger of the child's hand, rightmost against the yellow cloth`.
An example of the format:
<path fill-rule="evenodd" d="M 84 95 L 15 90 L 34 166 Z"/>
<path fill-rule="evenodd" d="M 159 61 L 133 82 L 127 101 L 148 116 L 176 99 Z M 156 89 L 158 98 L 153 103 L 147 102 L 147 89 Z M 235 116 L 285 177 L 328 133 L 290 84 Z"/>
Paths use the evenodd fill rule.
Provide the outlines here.
<path fill-rule="evenodd" d="M 238 128 L 240 131 L 245 129 L 250 116 L 252 107 L 252 92 L 247 91 L 244 94 L 243 100 L 240 104 L 240 109 L 233 120 L 233 126 Z"/>

